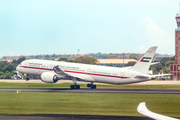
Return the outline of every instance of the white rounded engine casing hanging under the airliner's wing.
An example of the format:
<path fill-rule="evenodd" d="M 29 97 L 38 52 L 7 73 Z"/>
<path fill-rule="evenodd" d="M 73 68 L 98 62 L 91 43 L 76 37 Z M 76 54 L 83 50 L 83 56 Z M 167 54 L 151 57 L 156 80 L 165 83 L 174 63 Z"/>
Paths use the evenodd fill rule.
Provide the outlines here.
<path fill-rule="evenodd" d="M 59 80 L 59 78 L 57 77 L 56 74 L 52 72 L 43 72 L 41 74 L 41 80 L 42 82 L 46 82 L 46 83 L 56 83 Z"/>

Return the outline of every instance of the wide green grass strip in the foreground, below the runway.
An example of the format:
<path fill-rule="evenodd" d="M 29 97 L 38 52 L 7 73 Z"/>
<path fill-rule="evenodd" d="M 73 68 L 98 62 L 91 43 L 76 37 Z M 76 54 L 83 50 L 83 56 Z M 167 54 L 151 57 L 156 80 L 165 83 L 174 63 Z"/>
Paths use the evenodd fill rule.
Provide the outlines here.
<path fill-rule="evenodd" d="M 180 95 L 119 93 L 0 92 L 0 114 L 83 114 L 142 116 L 140 102 L 149 110 L 180 117 Z"/>

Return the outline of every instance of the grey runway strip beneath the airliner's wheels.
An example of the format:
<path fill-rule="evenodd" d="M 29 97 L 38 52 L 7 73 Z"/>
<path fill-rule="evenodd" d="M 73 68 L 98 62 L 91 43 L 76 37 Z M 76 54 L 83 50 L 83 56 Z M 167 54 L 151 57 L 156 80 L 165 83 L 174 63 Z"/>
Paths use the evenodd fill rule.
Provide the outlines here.
<path fill-rule="evenodd" d="M 9 88 L 0 87 L 0 91 L 11 92 L 70 92 L 70 93 L 137 93 L 137 94 L 180 94 L 180 90 L 168 89 L 70 89 L 70 88 Z"/>

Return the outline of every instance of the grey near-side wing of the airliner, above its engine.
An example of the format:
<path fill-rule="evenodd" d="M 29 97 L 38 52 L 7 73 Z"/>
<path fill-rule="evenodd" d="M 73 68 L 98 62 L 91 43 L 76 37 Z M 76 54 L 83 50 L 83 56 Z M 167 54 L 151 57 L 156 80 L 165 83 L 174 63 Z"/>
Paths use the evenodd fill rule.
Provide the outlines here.
<path fill-rule="evenodd" d="M 63 70 L 59 68 L 59 65 L 53 67 L 54 72 L 57 74 L 58 77 L 63 79 L 74 79 L 76 80 L 83 80 L 84 78 L 82 76 L 78 76 L 76 74 L 68 74 L 65 73 Z"/>

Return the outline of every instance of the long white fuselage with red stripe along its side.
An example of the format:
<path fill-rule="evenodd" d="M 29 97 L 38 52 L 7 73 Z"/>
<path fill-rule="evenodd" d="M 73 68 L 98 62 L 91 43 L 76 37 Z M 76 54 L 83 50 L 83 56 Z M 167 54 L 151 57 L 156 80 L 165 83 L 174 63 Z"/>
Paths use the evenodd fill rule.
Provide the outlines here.
<path fill-rule="evenodd" d="M 52 72 L 54 66 L 66 74 L 78 76 L 84 82 L 100 82 L 110 84 L 128 84 L 150 80 L 151 76 L 128 68 L 107 67 L 49 60 L 25 60 L 17 66 L 17 70 L 32 75 L 41 75 L 44 72 Z M 144 76 L 144 77 L 137 77 Z"/>

